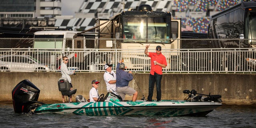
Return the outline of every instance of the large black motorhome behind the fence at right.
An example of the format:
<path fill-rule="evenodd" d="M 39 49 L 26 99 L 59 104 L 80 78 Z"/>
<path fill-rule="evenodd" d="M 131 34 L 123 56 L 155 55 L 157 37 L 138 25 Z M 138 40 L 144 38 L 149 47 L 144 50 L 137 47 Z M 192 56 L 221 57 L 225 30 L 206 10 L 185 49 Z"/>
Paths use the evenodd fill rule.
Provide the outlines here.
<path fill-rule="evenodd" d="M 211 18 L 208 38 L 218 48 L 244 48 L 245 54 L 222 54 L 222 70 L 255 70 L 256 68 L 256 2 L 240 2 Z M 221 40 L 222 39 L 222 40 Z M 239 40 L 240 39 L 240 40 Z M 250 49 L 252 48 L 252 49 Z M 240 49 L 243 50 L 243 49 Z M 238 61 L 238 65 L 231 63 Z"/>

